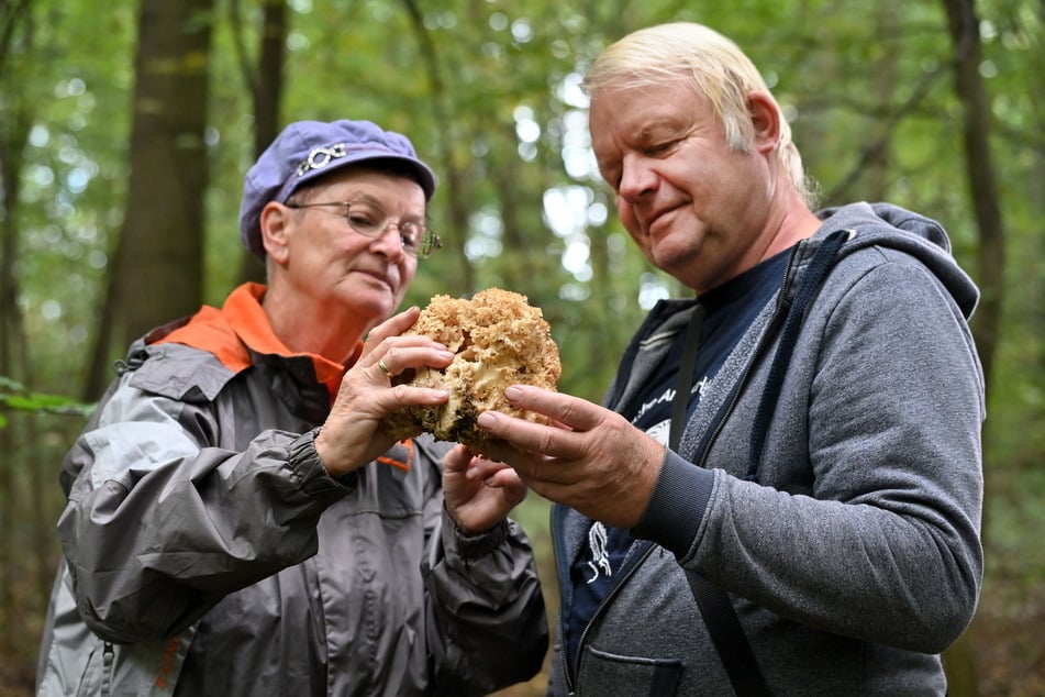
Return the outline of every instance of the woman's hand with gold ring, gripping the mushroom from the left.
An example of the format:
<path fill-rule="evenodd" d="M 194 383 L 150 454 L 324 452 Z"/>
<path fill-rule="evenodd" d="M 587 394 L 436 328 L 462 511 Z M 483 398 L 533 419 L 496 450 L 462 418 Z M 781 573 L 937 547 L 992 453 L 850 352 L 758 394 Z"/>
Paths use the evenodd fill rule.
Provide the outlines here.
<path fill-rule="evenodd" d="M 394 439 L 379 429 L 386 414 L 448 399 L 445 390 L 392 385 L 404 370 L 442 369 L 454 361 L 446 346 L 427 336 L 401 335 L 420 314 L 413 307 L 374 328 L 358 361 L 342 378 L 330 416 L 315 436 L 315 452 L 331 476 L 348 474 L 391 447 Z"/>

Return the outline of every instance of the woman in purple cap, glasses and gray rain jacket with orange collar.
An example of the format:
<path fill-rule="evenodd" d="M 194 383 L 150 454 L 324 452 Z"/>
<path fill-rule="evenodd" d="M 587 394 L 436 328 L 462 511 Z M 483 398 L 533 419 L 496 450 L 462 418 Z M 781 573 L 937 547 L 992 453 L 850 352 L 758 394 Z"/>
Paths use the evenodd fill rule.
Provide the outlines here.
<path fill-rule="evenodd" d="M 486 694 L 547 648 L 514 472 L 393 442 L 432 170 L 369 122 L 289 125 L 247 174 L 267 285 L 130 350 L 63 466 L 40 695 Z M 388 319 L 391 318 L 391 319 Z"/>

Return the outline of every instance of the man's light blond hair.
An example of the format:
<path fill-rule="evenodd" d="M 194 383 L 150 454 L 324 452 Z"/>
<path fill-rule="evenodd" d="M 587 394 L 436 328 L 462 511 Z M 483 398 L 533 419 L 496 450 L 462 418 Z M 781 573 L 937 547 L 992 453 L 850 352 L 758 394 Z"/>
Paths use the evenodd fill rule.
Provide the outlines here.
<path fill-rule="evenodd" d="M 758 68 L 741 48 L 712 29 L 691 22 L 659 24 L 633 32 L 611 44 L 585 75 L 589 95 L 605 89 L 665 86 L 689 80 L 698 95 L 708 100 L 712 113 L 725 131 L 726 143 L 741 152 L 751 150 L 754 124 L 747 95 L 770 95 Z M 796 190 L 812 202 L 812 187 L 802 167 L 802 156 L 791 141 L 791 126 L 780 106 L 780 137 L 776 157 Z"/>

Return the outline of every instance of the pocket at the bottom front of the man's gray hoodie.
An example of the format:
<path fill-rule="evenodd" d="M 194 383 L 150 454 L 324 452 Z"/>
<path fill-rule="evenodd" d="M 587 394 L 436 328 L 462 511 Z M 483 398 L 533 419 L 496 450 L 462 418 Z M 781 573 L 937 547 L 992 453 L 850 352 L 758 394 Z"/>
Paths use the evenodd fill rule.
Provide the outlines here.
<path fill-rule="evenodd" d="M 579 695 L 670 697 L 682 677 L 680 659 L 621 656 L 588 646 L 578 681 Z"/>

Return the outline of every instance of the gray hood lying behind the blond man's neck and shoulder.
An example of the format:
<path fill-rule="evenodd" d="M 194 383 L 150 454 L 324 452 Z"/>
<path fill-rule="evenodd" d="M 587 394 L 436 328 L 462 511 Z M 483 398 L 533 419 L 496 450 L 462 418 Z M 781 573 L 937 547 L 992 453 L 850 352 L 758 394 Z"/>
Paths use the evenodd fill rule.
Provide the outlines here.
<path fill-rule="evenodd" d="M 853 230 L 854 239 L 842 248 L 849 254 L 867 246 L 887 246 L 919 261 L 944 285 L 966 319 L 972 316 L 980 292 L 950 254 L 950 239 L 935 220 L 891 203 L 851 203 L 816 212 L 823 226 L 816 237 L 837 230 Z"/>

